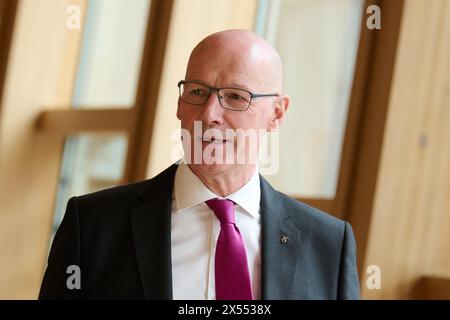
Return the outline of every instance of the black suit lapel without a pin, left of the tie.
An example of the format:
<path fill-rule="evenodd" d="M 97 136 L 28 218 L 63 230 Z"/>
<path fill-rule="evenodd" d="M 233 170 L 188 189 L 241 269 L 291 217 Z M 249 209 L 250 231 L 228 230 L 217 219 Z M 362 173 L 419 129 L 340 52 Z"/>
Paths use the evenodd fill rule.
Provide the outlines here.
<path fill-rule="evenodd" d="M 137 189 L 145 203 L 131 211 L 131 226 L 146 299 L 172 299 L 171 210 L 177 165 Z"/>

